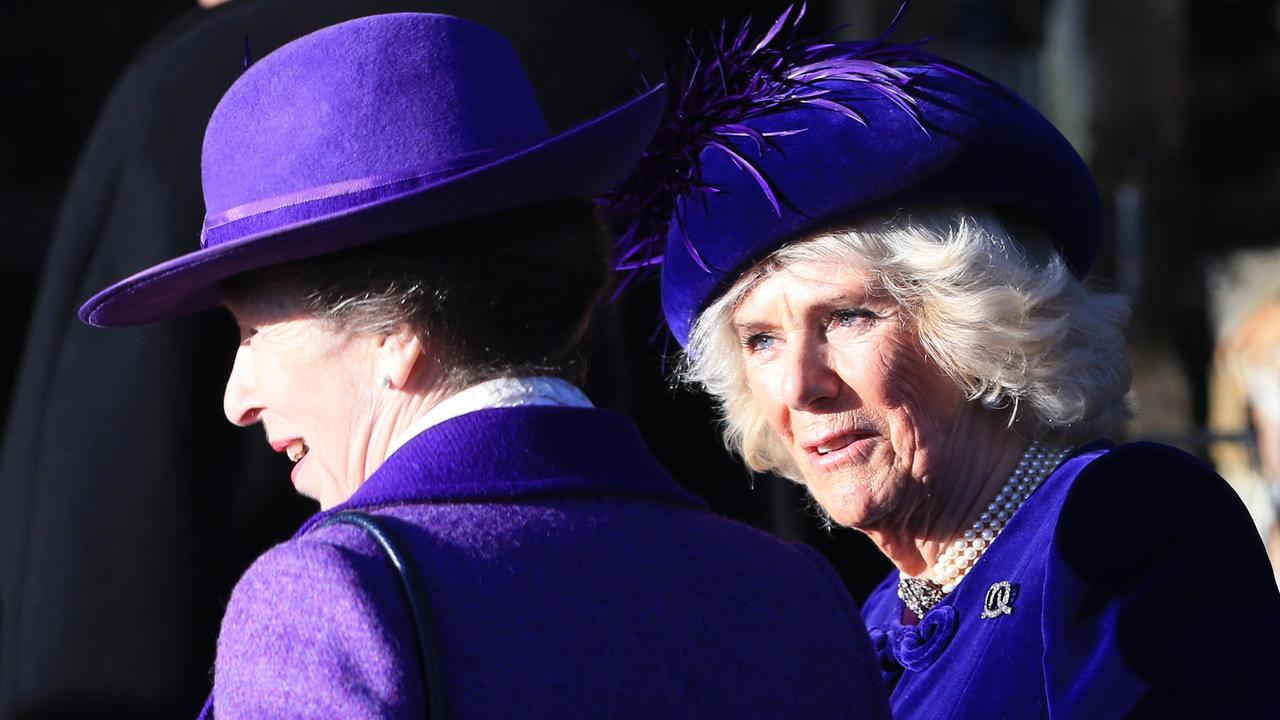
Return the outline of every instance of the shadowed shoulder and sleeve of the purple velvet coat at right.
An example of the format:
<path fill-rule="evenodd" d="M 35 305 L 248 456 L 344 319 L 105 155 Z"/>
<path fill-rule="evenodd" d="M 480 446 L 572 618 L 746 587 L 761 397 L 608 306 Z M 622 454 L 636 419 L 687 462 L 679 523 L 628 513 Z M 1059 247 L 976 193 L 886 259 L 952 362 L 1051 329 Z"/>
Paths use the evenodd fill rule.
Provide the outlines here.
<path fill-rule="evenodd" d="M 1274 716 L 1239 667 L 1280 662 L 1280 594 L 1248 512 L 1211 468 L 1149 442 L 1094 459 L 1068 492 L 1044 587 L 1050 703 L 1069 716 Z M 1224 660 L 1228 659 L 1228 660 Z"/>

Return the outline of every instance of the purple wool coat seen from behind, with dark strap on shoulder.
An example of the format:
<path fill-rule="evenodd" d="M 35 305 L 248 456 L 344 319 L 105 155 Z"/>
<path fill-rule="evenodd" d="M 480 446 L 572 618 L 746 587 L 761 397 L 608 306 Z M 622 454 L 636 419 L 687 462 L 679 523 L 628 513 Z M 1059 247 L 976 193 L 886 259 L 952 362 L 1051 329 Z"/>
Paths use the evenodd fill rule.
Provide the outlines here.
<path fill-rule="evenodd" d="M 509 407 L 422 432 L 248 569 L 218 641 L 219 720 L 425 715 L 387 557 L 319 527 L 343 509 L 389 519 L 419 568 L 451 716 L 888 717 L 813 550 L 707 512 L 622 415 Z"/>

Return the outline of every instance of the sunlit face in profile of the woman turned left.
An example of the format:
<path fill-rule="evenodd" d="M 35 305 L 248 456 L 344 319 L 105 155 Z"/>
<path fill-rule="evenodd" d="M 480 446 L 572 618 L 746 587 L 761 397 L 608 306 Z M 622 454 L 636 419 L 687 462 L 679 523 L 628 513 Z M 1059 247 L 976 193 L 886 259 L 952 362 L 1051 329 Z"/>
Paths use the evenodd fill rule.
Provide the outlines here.
<path fill-rule="evenodd" d="M 293 486 L 321 509 L 347 500 L 366 477 L 372 434 L 371 337 L 337 332 L 280 295 L 227 306 L 241 328 L 227 419 L 261 423 L 271 448 L 294 460 Z"/>

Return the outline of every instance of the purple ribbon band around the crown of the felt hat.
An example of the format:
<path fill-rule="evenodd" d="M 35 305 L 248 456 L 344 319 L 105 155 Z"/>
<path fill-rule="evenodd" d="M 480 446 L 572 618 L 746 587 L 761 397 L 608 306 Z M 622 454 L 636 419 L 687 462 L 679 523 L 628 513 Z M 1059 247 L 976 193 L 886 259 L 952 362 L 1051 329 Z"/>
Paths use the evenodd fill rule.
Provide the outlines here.
<path fill-rule="evenodd" d="M 502 154 L 492 147 L 476 150 L 402 173 L 321 184 L 237 205 L 229 210 L 205 217 L 205 224 L 200 231 L 200 247 L 207 250 L 241 237 L 257 236 L 300 222 L 314 222 L 370 202 L 407 195 L 434 184 L 442 178 L 449 178 L 490 163 Z"/>

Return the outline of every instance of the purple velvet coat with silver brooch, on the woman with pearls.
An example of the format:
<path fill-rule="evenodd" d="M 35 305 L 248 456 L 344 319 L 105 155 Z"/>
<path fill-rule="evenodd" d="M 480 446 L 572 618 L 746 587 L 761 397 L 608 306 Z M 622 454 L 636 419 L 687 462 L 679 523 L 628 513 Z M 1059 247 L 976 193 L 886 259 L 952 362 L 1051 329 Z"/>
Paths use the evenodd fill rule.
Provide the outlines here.
<path fill-rule="evenodd" d="M 864 611 L 899 720 L 1280 717 L 1270 564 L 1230 487 L 1181 451 L 1084 447 L 919 629 L 897 578 Z M 983 618 L 1001 580 L 1012 612 Z M 937 614 L 946 642 L 901 642 L 940 637 Z"/>

